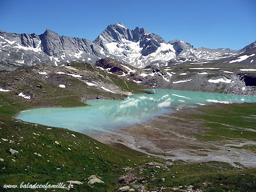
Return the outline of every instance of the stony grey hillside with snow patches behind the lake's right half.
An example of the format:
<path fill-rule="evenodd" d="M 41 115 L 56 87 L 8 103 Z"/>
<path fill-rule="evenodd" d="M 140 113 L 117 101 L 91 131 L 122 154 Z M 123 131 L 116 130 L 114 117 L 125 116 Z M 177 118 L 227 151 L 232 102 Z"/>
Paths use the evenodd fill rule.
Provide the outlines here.
<path fill-rule="evenodd" d="M 250 50 L 249 52 L 253 52 Z M 241 55 L 248 54 L 242 53 Z M 185 62 L 182 65 L 136 69 L 113 59 L 101 59 L 96 68 L 151 89 L 204 91 L 239 95 L 256 95 L 256 70 L 232 62 L 237 56 L 223 61 Z M 248 58 L 251 60 L 254 58 Z M 231 60 L 231 61 L 229 61 Z M 253 59 L 252 59 L 253 60 Z M 230 62 L 230 65 L 222 63 Z M 244 61 L 248 65 L 248 61 Z M 252 63 L 254 65 L 254 63 Z M 249 69 L 248 69 L 249 67 Z"/>

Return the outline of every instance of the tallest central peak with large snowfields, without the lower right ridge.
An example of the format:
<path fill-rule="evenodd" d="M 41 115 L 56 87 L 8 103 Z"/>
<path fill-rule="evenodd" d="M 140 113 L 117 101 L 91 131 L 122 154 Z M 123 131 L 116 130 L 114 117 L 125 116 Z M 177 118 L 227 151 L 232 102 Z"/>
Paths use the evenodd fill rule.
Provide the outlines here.
<path fill-rule="evenodd" d="M 176 57 L 172 45 L 154 33 L 143 28 L 127 29 L 122 24 L 109 25 L 94 41 L 109 56 L 114 56 L 125 63 L 143 68 L 157 61 L 167 63 Z"/>

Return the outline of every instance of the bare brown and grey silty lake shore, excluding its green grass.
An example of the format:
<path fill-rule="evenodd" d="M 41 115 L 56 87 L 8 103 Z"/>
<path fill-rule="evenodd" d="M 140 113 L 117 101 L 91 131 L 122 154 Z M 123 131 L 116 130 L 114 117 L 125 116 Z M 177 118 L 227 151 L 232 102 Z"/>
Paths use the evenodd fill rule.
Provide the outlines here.
<path fill-rule="evenodd" d="M 229 107 L 232 107 L 232 105 L 236 106 L 238 104 L 228 104 Z M 207 141 L 200 138 L 200 136 L 207 136 L 210 131 L 215 132 L 211 127 L 204 125 L 209 121 L 195 117 L 194 119 L 189 118 L 189 115 L 203 115 L 202 111 L 212 108 L 222 110 L 226 106 L 226 104 L 215 104 L 193 109 L 184 108 L 179 110 L 178 113 L 165 114 L 153 121 L 136 124 L 113 133 L 105 132 L 90 136 L 112 147 L 120 147 L 116 144 L 119 143 L 134 150 L 165 159 L 183 160 L 185 162 L 221 161 L 238 167 L 256 167 L 254 161 L 256 154 L 251 149 L 253 146 L 255 147 L 255 141 L 243 137 L 225 138 L 224 135 L 220 135 L 218 139 Z M 225 124 L 225 127 L 227 130 L 239 129 L 255 134 L 254 130 L 242 129 L 242 127 L 233 125 L 228 127 L 228 124 Z"/>

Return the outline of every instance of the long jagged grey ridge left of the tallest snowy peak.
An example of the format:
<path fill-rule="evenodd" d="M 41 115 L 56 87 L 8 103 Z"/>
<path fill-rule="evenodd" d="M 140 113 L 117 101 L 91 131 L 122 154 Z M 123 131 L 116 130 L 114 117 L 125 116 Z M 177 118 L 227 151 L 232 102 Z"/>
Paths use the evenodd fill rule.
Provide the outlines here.
<path fill-rule="evenodd" d="M 67 65 L 75 60 L 95 63 L 104 56 L 100 46 L 81 38 L 59 36 L 46 30 L 41 35 L 0 31 L 0 68 L 13 70 L 36 64 Z"/>

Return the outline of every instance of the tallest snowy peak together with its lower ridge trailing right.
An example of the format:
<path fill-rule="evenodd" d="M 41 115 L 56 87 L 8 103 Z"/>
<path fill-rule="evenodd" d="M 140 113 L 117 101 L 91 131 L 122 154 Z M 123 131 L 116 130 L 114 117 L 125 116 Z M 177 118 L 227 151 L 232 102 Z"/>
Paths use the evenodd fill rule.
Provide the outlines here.
<path fill-rule="evenodd" d="M 239 53 L 230 49 L 195 49 L 182 40 L 166 42 L 159 35 L 143 28 L 130 30 L 121 23 L 109 25 L 93 42 L 108 52 L 110 57 L 137 68 L 148 65 L 166 66 L 185 61 L 216 60 Z"/>

